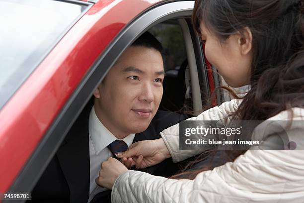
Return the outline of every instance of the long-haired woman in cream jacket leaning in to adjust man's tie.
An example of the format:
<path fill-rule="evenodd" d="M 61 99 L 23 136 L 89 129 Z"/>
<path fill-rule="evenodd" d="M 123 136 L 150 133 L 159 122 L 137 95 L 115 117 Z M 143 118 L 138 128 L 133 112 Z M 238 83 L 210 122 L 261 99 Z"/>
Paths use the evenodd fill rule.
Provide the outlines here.
<path fill-rule="evenodd" d="M 207 59 L 228 85 L 250 84 L 251 89 L 242 100 L 225 102 L 190 120 L 267 120 L 252 134 L 264 143 L 273 138 L 267 131 L 271 120 L 292 120 L 282 127 L 298 145 L 303 144 L 303 0 L 196 0 L 193 23 L 205 41 Z M 178 127 L 117 156 L 126 166 L 144 168 L 168 157 L 178 162 L 201 153 L 204 149 L 179 151 Z M 280 134 L 280 129 L 275 130 Z M 180 180 L 129 171 L 110 158 L 102 163 L 96 182 L 112 189 L 113 203 L 304 201 L 301 150 L 223 153 L 228 157 L 224 165 L 188 171 Z"/>

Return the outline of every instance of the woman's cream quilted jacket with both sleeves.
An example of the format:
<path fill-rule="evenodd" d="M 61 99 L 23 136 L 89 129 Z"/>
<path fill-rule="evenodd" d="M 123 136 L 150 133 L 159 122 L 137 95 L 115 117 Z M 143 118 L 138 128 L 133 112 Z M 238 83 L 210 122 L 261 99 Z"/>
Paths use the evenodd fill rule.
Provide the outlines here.
<path fill-rule="evenodd" d="M 222 119 L 238 103 L 225 102 L 190 120 Z M 282 111 L 268 120 L 290 120 L 289 112 Z M 293 120 L 304 120 L 303 108 L 293 108 L 292 112 Z M 253 136 L 265 139 L 269 125 L 261 123 Z M 292 124 L 287 133 L 304 146 L 304 125 Z M 179 151 L 178 124 L 162 131 L 161 136 L 174 162 L 201 152 Z M 234 162 L 202 172 L 194 180 L 173 180 L 130 170 L 115 181 L 112 203 L 304 203 L 303 152 L 248 150 Z"/>

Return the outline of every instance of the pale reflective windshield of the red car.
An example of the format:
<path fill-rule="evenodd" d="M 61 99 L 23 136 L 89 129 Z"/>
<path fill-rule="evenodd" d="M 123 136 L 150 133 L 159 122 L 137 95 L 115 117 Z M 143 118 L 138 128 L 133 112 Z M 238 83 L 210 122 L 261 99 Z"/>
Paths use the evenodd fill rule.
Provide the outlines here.
<path fill-rule="evenodd" d="M 57 0 L 0 0 L 0 108 L 86 7 Z"/>

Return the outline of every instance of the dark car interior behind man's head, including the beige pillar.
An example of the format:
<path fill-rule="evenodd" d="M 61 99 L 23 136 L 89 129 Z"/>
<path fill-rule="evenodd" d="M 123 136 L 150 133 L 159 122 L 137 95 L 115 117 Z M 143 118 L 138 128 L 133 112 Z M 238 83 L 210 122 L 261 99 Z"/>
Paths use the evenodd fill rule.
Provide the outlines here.
<path fill-rule="evenodd" d="M 201 90 L 189 27 L 185 19 L 170 19 L 150 28 L 164 48 L 165 79 L 160 110 L 195 115 L 202 109 Z M 190 63 L 189 63 L 190 61 Z"/>

